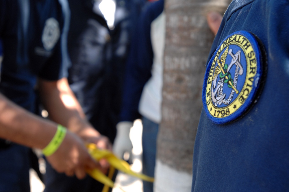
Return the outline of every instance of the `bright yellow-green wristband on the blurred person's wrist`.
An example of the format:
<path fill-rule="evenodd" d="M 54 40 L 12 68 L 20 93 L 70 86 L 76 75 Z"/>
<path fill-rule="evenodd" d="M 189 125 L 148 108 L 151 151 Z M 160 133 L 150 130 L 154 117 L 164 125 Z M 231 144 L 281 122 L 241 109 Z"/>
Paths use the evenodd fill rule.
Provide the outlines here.
<path fill-rule="evenodd" d="M 55 135 L 53 136 L 50 143 L 44 149 L 42 149 L 42 153 L 45 156 L 52 155 L 61 145 L 65 135 L 66 135 L 66 128 L 63 127 L 62 125 L 58 125 Z"/>

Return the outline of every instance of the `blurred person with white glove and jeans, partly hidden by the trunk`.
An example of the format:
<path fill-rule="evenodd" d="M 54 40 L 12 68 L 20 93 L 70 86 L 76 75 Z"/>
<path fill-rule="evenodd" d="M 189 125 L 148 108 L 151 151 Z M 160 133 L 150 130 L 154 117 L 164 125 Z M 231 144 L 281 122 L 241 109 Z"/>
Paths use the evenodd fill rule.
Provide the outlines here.
<path fill-rule="evenodd" d="M 165 39 L 164 0 L 143 9 L 127 61 L 121 119 L 113 151 L 122 157 L 131 152 L 129 131 L 133 121 L 142 118 L 142 172 L 154 176 L 156 139 L 161 121 L 162 71 Z M 144 192 L 153 183 L 143 182 Z"/>

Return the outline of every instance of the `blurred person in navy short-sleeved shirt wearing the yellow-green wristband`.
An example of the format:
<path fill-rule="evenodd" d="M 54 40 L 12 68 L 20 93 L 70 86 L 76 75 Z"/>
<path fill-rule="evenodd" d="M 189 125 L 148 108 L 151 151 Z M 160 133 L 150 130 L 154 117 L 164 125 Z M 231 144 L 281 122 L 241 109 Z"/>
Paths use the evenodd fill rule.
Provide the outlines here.
<path fill-rule="evenodd" d="M 111 148 L 85 120 L 68 86 L 62 8 L 57 0 L 0 1 L 0 191 L 30 192 L 29 147 L 43 149 L 57 171 L 78 178 L 97 167 L 83 140 Z M 33 114 L 36 87 L 52 121 Z"/>

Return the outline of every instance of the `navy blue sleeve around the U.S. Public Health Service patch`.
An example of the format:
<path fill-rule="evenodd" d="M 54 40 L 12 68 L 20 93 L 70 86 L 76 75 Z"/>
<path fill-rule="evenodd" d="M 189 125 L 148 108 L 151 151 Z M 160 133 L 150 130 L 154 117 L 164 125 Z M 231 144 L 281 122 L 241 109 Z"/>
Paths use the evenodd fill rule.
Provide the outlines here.
<path fill-rule="evenodd" d="M 264 89 L 241 119 L 213 123 L 203 110 L 195 140 L 192 191 L 288 191 L 289 1 L 232 1 L 213 52 L 229 34 L 244 30 L 264 44 Z"/>

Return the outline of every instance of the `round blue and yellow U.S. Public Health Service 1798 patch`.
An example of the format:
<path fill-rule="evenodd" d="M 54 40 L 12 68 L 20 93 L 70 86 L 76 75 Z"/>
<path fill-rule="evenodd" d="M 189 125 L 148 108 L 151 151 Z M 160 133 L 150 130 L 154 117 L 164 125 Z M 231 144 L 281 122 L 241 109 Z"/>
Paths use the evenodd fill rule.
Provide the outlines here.
<path fill-rule="evenodd" d="M 203 85 L 203 105 L 218 124 L 244 115 L 255 103 L 263 69 L 261 51 L 249 32 L 229 35 L 208 63 Z"/>

